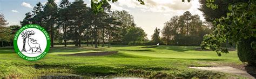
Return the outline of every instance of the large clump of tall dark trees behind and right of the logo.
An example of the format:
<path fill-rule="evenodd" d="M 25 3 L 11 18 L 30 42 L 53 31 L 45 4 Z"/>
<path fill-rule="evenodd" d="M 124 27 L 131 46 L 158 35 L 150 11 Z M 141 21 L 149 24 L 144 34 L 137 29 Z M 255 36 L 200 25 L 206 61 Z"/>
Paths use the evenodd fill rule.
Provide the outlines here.
<path fill-rule="evenodd" d="M 53 0 L 43 5 L 37 3 L 32 13 L 26 13 L 21 25 L 37 24 L 48 30 L 51 37 L 51 47 L 54 41 L 63 42 L 66 47 L 68 41 L 75 46 L 81 46 L 86 41 L 89 46 L 105 42 L 141 42 L 146 39 L 146 33 L 136 27 L 133 16 L 126 11 L 112 11 L 107 1 L 102 1 L 102 12 L 93 13 L 83 1 L 70 3 L 68 0 L 57 4 Z"/>

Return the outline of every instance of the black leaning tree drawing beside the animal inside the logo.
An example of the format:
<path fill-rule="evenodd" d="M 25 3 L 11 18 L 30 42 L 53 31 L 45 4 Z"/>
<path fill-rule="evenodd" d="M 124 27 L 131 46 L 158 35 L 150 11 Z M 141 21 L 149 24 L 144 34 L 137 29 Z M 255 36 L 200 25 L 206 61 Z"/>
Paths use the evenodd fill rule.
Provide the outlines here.
<path fill-rule="evenodd" d="M 23 31 L 21 33 L 22 35 L 22 38 L 23 38 L 23 48 L 22 48 L 22 51 L 21 52 L 26 52 L 26 49 L 25 49 L 25 45 L 26 45 L 26 39 L 31 37 L 32 35 L 35 35 L 34 31 L 33 30 L 26 30 L 26 31 Z"/>

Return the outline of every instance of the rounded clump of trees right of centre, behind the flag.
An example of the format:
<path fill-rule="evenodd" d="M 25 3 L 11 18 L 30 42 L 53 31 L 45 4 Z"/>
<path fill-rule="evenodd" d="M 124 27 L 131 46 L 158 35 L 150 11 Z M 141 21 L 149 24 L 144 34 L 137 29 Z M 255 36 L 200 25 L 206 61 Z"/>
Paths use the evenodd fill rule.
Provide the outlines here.
<path fill-rule="evenodd" d="M 209 33 L 211 33 L 211 24 L 203 23 L 199 15 L 192 15 L 186 11 L 183 15 L 175 15 L 165 22 L 161 31 L 156 28 L 152 42 L 166 45 L 200 45 L 203 36 Z"/>

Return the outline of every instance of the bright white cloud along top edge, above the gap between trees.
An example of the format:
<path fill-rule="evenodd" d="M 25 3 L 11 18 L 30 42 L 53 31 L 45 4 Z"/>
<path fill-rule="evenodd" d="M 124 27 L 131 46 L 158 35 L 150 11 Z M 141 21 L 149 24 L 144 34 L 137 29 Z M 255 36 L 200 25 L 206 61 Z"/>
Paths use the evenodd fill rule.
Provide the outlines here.
<path fill-rule="evenodd" d="M 145 5 L 139 4 L 137 0 L 118 1 L 119 6 L 138 8 L 144 12 L 172 12 L 173 10 L 188 10 L 192 3 L 181 2 L 180 0 L 147 0 Z"/>

